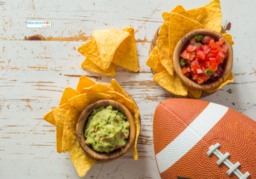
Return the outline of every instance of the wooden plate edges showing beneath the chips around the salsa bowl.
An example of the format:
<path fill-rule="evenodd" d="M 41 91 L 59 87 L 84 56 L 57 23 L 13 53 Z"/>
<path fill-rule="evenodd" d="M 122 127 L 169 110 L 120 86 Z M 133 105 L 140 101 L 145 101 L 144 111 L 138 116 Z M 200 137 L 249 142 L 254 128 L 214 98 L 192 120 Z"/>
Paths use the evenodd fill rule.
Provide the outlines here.
<path fill-rule="evenodd" d="M 161 27 L 161 26 L 160 26 Z M 157 29 L 157 31 L 156 31 L 156 33 L 154 34 L 154 36 L 153 36 L 153 38 L 152 38 L 152 40 L 151 40 L 151 43 L 150 43 L 150 50 L 149 50 L 149 52 L 148 52 L 148 55 L 153 51 L 153 49 L 155 48 L 155 46 L 156 46 L 156 44 L 157 44 L 157 39 L 158 39 L 158 37 L 159 37 L 159 30 L 160 30 L 160 27 Z M 223 33 L 223 34 L 226 34 L 226 31 L 224 30 L 224 28 L 222 27 L 221 28 L 221 33 Z M 231 49 L 232 49 L 232 47 L 231 47 Z M 153 75 L 156 75 L 157 74 L 157 72 L 156 71 L 154 71 L 153 69 L 151 69 L 151 72 L 152 72 L 152 74 Z M 216 93 L 217 91 L 215 91 L 215 92 L 212 92 L 212 93 L 207 93 L 207 92 L 204 92 L 204 91 L 202 91 L 202 94 L 201 94 L 201 96 L 199 97 L 199 98 L 195 98 L 193 95 L 191 95 L 189 92 L 187 92 L 187 96 L 180 96 L 180 95 L 175 95 L 175 94 L 173 94 L 174 96 L 177 96 L 177 97 L 179 97 L 179 98 L 188 98 L 188 99 L 200 99 L 200 98 L 204 98 L 204 97 L 207 97 L 207 96 L 209 96 L 209 95 L 211 95 L 211 94 L 214 94 L 214 93 Z"/>

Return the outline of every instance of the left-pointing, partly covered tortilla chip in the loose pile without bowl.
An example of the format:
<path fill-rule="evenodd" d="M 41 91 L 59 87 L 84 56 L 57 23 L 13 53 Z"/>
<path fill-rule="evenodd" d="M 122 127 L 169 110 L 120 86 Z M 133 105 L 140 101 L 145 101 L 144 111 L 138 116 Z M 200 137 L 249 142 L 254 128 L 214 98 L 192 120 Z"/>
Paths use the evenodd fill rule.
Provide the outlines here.
<path fill-rule="evenodd" d="M 91 59 L 91 61 L 96 64 L 100 69 L 102 69 L 105 72 L 110 72 L 113 68 L 113 66 L 115 66 L 114 63 L 111 63 L 109 68 L 103 68 L 103 66 L 101 65 L 101 59 L 99 56 L 99 51 L 98 51 L 98 47 L 97 47 L 97 43 L 94 37 L 90 38 L 90 41 L 83 44 L 81 47 L 79 47 L 78 52 L 80 52 L 83 56 Z"/>

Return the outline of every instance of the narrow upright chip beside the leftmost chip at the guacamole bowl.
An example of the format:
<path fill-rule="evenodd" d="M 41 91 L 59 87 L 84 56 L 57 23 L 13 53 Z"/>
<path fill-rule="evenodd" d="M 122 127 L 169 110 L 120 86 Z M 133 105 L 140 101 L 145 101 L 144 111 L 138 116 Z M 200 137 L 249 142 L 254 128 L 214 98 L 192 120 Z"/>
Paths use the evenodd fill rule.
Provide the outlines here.
<path fill-rule="evenodd" d="M 63 126 L 65 123 L 65 119 L 67 116 L 68 110 L 54 108 L 53 109 L 53 116 L 56 122 L 56 146 L 57 152 L 62 152 L 62 136 L 63 136 Z"/>

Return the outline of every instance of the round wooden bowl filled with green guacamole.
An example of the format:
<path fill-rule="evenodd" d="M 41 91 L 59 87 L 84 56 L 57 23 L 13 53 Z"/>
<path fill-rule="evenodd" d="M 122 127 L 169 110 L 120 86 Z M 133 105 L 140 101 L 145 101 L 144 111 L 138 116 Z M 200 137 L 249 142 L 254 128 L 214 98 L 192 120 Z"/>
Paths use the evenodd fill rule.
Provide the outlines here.
<path fill-rule="evenodd" d="M 114 100 L 100 100 L 84 109 L 76 125 L 82 149 L 99 161 L 113 161 L 126 154 L 135 140 L 130 111 Z"/>

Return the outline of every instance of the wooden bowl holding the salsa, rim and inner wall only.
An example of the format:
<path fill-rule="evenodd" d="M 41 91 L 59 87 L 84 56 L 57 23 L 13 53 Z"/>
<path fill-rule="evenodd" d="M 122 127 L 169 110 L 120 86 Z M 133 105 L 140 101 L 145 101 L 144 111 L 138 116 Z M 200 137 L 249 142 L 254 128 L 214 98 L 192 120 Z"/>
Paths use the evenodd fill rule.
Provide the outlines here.
<path fill-rule="evenodd" d="M 191 88 L 206 91 L 206 90 L 209 90 L 209 89 L 219 86 L 220 84 L 223 83 L 223 81 L 225 79 L 227 79 L 228 75 L 231 72 L 232 65 L 233 65 L 233 50 L 232 50 L 230 44 L 228 43 L 228 41 L 224 38 L 225 39 L 224 43 L 227 44 L 227 46 L 228 46 L 228 50 L 227 50 L 228 58 L 225 59 L 224 67 L 223 67 L 224 73 L 220 76 L 220 78 L 218 80 L 216 80 L 214 82 L 206 81 L 202 84 L 198 84 L 198 83 L 194 82 L 193 80 L 191 80 L 190 77 L 186 77 L 185 75 L 183 75 L 181 73 L 180 56 L 179 56 L 185 50 L 185 46 L 187 45 L 187 43 L 189 43 L 189 38 L 191 38 L 195 35 L 203 35 L 203 36 L 211 35 L 216 40 L 219 40 L 223 36 L 214 30 L 197 29 L 197 30 L 191 31 L 191 32 L 187 33 L 185 36 L 183 36 L 180 39 L 180 41 L 177 43 L 175 50 L 174 50 L 174 57 L 173 57 L 174 69 L 175 69 L 176 74 L 182 80 L 182 82 Z"/>

